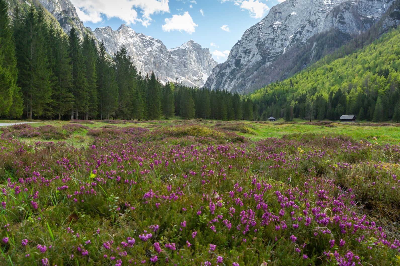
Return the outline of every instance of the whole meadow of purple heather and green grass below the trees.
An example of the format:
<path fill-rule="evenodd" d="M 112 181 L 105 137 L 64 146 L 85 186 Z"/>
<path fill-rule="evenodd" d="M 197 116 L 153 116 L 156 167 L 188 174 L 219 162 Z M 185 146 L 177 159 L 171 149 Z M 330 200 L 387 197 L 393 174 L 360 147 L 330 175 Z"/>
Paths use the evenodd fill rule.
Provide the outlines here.
<path fill-rule="evenodd" d="M 0 132 L 2 265 L 400 264 L 396 124 L 74 120 Z"/>

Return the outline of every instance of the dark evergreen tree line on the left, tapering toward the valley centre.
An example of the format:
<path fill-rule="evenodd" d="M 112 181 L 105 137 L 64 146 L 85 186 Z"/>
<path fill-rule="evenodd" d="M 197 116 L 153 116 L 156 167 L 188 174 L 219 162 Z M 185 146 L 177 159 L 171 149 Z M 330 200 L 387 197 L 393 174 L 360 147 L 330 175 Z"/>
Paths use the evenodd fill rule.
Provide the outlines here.
<path fill-rule="evenodd" d="M 104 43 L 75 28 L 69 35 L 32 4 L 10 21 L 0 0 L 0 117 L 156 120 L 253 119 L 251 100 L 226 91 L 163 85 L 143 76 L 122 46 L 110 58 Z"/>

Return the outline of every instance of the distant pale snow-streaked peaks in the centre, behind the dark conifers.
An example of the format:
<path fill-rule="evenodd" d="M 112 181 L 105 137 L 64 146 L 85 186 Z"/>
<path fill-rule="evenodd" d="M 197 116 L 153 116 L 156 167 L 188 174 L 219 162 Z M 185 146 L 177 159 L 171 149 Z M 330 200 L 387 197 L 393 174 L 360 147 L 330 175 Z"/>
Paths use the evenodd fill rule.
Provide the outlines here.
<path fill-rule="evenodd" d="M 178 78 L 184 85 L 202 87 L 217 65 L 209 49 L 192 40 L 167 49 L 159 39 L 137 33 L 124 24 L 118 30 L 104 27 L 97 28 L 93 33 L 98 41 L 104 41 L 110 55 L 125 45 L 138 71 L 142 74 L 154 71 L 163 82 Z"/>

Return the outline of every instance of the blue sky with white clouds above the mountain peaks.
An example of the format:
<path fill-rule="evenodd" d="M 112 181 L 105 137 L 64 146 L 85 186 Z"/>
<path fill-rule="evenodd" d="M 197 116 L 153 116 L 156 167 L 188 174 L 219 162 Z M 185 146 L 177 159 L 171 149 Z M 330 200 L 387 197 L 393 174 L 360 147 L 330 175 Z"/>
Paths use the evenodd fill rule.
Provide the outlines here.
<path fill-rule="evenodd" d="M 282 0 L 71 0 L 85 26 L 126 24 L 174 48 L 193 39 L 226 60 L 246 29 Z"/>

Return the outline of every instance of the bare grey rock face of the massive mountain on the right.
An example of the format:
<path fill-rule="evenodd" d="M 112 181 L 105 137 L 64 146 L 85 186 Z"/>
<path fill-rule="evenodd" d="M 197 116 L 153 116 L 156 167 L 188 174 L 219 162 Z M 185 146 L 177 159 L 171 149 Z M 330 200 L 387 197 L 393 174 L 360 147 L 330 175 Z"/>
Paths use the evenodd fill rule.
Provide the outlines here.
<path fill-rule="evenodd" d="M 258 69 L 270 65 L 294 44 L 336 29 L 346 34 L 368 30 L 388 10 L 392 0 L 286 0 L 252 26 L 217 65 L 205 86 L 249 92 Z M 268 75 L 268 73 L 264 73 Z"/>

